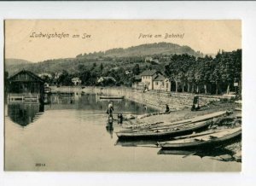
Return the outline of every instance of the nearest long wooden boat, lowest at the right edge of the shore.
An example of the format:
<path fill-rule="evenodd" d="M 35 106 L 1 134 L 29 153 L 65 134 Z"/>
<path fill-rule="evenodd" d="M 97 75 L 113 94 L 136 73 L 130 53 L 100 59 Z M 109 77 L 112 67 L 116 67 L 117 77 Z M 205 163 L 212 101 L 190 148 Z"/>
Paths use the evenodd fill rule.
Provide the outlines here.
<path fill-rule="evenodd" d="M 229 142 L 234 142 L 239 137 L 241 137 L 241 126 L 234 129 L 220 130 L 200 137 L 192 137 L 191 135 L 186 139 L 159 142 L 158 144 L 164 149 L 204 149 L 223 146 Z"/>

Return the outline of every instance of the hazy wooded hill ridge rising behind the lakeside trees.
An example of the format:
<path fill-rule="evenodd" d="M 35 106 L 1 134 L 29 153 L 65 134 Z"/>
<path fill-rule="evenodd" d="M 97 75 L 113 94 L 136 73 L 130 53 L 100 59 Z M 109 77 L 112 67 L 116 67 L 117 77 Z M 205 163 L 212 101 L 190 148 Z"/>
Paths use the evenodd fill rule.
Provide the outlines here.
<path fill-rule="evenodd" d="M 131 70 L 136 63 L 140 64 L 141 67 L 150 65 L 145 62 L 145 57 L 157 58 L 164 65 L 174 54 L 202 56 L 200 52 L 195 52 L 189 46 L 171 43 L 142 44 L 127 49 L 108 49 L 105 52 L 94 52 L 77 55 L 75 58 L 54 59 L 38 63 L 6 59 L 5 71 L 8 71 L 10 76 L 22 69 L 33 73 L 56 73 L 62 70 L 67 70 L 68 73 L 79 73 L 82 69 L 90 69 L 92 66 L 99 67 L 101 64 L 104 67 L 104 71 L 114 67 L 123 67 L 125 70 Z"/>

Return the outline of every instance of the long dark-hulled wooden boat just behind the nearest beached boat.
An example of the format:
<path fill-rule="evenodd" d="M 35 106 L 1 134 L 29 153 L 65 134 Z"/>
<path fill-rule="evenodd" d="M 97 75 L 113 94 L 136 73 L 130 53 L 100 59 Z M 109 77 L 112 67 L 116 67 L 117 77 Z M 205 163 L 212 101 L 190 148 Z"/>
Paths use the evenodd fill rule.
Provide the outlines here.
<path fill-rule="evenodd" d="M 119 137 L 119 140 L 162 140 L 192 134 L 194 131 L 206 129 L 209 125 L 211 125 L 211 122 L 201 121 L 193 124 L 170 126 L 169 128 L 163 130 L 119 131 L 116 132 L 116 135 Z"/>

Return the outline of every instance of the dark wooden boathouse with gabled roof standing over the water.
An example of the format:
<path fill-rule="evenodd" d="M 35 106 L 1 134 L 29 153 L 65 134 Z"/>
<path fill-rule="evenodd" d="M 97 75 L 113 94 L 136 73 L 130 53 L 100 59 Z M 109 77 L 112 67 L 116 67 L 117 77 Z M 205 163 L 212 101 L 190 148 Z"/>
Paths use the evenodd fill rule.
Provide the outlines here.
<path fill-rule="evenodd" d="M 22 70 L 9 78 L 8 102 L 44 102 L 44 79 Z"/>

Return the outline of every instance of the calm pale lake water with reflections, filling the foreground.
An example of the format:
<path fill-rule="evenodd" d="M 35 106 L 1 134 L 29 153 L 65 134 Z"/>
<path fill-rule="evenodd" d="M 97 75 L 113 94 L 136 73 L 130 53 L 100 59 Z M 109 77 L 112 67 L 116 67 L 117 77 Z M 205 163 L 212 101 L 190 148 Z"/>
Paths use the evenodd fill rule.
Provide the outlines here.
<path fill-rule="evenodd" d="M 154 112 L 126 100 L 113 101 L 117 113 Z M 51 104 L 5 106 L 6 171 L 240 171 L 241 163 L 212 155 L 122 146 L 113 124 L 106 128 L 108 101 L 96 95 L 58 94 Z"/>

